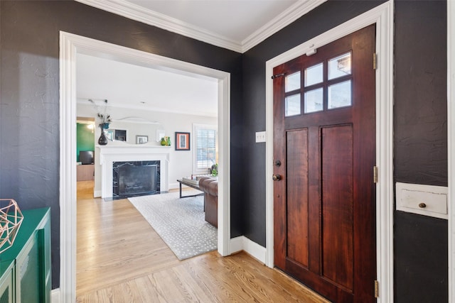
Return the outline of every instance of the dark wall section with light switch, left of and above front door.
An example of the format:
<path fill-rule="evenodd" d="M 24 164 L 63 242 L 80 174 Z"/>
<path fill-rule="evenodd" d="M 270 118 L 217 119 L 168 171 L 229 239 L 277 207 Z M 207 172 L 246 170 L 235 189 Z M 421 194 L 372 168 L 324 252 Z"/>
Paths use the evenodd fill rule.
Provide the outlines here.
<path fill-rule="evenodd" d="M 265 246 L 265 145 L 255 143 L 255 132 L 265 130 L 265 63 L 383 2 L 328 1 L 244 54 L 243 154 L 247 169 L 243 174 L 243 192 L 247 199 L 244 209 L 245 236 L 252 241 Z"/>

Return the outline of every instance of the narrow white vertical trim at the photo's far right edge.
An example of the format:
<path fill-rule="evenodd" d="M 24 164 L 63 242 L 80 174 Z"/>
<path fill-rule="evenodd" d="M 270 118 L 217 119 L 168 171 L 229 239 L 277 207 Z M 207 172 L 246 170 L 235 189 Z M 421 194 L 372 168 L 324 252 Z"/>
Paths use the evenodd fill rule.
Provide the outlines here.
<path fill-rule="evenodd" d="M 455 2 L 447 0 L 447 148 L 449 211 L 449 302 L 455 300 Z"/>

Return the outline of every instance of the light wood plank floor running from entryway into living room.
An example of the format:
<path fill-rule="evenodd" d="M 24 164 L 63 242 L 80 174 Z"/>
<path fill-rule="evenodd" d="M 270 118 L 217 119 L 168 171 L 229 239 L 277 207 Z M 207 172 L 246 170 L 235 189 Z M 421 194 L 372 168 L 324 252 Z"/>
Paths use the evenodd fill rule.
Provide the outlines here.
<path fill-rule="evenodd" d="M 179 261 L 127 199 L 77 182 L 77 302 L 328 302 L 247 253 Z"/>

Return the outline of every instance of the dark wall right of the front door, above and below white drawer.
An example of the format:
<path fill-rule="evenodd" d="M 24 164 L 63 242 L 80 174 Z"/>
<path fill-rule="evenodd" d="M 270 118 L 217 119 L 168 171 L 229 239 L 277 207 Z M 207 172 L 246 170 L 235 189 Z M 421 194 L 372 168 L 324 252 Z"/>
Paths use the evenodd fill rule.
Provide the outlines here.
<path fill-rule="evenodd" d="M 446 1 L 395 1 L 395 181 L 447 186 Z M 395 212 L 396 302 L 447 302 L 447 221 Z"/>

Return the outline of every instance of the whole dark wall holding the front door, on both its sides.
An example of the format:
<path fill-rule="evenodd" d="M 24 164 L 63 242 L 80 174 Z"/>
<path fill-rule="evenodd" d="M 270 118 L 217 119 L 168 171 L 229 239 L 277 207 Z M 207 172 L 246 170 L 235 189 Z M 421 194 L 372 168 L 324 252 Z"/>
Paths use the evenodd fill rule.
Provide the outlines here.
<path fill-rule="evenodd" d="M 265 129 L 265 62 L 380 2 L 328 1 L 244 54 L 242 192 L 252 241 L 265 246 L 265 145 L 254 136 Z M 395 4 L 395 181 L 446 186 L 446 1 Z M 394 231 L 396 302 L 447 302 L 447 222 L 396 211 Z"/>

